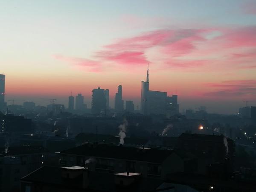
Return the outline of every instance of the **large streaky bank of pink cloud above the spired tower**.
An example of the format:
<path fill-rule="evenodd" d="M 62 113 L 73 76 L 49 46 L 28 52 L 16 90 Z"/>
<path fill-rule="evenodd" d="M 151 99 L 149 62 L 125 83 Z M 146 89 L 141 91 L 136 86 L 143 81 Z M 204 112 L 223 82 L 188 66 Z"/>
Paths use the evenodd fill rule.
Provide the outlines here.
<path fill-rule="evenodd" d="M 212 33 L 219 32 L 217 36 Z M 256 26 L 215 29 L 161 29 L 119 39 L 103 46 L 93 59 L 61 58 L 90 71 L 105 64 L 115 69 L 158 62 L 158 68 L 203 70 L 253 69 L 256 60 Z M 153 57 L 150 50 L 154 48 Z M 150 59 L 149 59 L 150 58 Z M 151 62 L 152 63 L 152 62 Z"/>

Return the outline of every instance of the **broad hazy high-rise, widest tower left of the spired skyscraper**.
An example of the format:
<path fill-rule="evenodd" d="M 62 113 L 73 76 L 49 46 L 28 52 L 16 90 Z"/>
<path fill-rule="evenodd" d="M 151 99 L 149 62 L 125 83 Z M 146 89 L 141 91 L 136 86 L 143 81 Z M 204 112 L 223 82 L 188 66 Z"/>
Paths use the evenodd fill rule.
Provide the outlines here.
<path fill-rule="evenodd" d="M 106 94 L 105 90 L 98 87 L 92 90 L 92 113 L 106 113 Z"/>

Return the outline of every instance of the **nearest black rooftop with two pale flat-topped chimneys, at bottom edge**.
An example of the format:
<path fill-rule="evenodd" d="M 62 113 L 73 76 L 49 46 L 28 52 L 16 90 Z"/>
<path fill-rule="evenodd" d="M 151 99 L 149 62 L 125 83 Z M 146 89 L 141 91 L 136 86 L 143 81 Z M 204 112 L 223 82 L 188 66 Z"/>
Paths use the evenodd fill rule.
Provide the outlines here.
<path fill-rule="evenodd" d="M 139 173 L 90 172 L 86 167 L 44 166 L 21 178 L 21 192 L 198 192 Z"/>

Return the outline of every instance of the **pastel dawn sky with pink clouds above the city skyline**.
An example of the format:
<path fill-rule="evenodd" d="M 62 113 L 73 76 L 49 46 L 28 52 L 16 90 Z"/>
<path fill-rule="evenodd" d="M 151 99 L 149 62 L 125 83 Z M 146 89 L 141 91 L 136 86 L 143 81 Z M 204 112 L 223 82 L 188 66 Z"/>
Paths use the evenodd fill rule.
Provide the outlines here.
<path fill-rule="evenodd" d="M 150 90 L 178 94 L 180 112 L 237 113 L 256 105 L 256 1 L 6 0 L 0 2 L 0 74 L 9 105 L 117 87 L 140 106 Z"/>

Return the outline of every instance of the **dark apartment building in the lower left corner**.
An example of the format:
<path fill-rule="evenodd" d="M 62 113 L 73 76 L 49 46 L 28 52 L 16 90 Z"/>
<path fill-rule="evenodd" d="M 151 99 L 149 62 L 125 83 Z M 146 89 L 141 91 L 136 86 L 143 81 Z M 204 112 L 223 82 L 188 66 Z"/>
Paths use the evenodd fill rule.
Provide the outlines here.
<path fill-rule="evenodd" d="M 43 147 L 24 146 L 0 148 L 0 191 L 19 192 L 20 177 L 40 168 L 48 156 Z"/>

